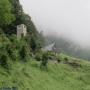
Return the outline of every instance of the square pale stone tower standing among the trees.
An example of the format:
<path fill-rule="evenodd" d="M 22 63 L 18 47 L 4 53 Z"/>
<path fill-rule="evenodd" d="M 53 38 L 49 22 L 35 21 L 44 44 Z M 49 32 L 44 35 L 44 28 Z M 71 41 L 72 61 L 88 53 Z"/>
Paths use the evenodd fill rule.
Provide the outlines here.
<path fill-rule="evenodd" d="M 27 27 L 24 24 L 17 26 L 17 38 L 20 39 L 22 37 L 25 37 L 27 34 Z"/>

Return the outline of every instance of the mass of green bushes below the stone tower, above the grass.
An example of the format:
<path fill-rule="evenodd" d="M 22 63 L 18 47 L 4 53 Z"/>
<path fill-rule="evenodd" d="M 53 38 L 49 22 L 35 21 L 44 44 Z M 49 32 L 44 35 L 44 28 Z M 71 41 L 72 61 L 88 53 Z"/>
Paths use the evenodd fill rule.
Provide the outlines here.
<path fill-rule="evenodd" d="M 5 34 L 0 35 L 0 62 L 1 66 L 10 65 L 8 61 L 27 61 L 29 60 L 30 51 L 24 39 L 18 40 L 15 35 L 9 38 Z M 5 65 L 6 64 L 6 65 Z M 8 67 L 7 67 L 8 68 Z"/>

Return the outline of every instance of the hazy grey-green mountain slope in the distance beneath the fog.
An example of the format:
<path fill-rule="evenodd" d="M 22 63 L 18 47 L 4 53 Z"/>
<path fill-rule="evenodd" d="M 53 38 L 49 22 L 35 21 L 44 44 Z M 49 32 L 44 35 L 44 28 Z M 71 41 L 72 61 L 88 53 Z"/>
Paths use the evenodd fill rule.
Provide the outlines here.
<path fill-rule="evenodd" d="M 63 36 L 57 37 L 54 35 L 47 35 L 46 44 L 52 42 L 55 42 L 56 47 L 65 54 L 86 60 L 90 59 L 90 47 L 82 47 L 75 41 L 72 41 L 71 39 L 65 38 Z"/>

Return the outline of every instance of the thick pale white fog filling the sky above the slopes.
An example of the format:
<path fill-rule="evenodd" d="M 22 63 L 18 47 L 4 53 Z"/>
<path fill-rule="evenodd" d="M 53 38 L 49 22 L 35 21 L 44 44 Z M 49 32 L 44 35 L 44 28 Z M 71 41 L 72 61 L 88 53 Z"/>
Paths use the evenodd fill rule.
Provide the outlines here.
<path fill-rule="evenodd" d="M 90 45 L 90 0 L 20 1 L 39 31 Z"/>

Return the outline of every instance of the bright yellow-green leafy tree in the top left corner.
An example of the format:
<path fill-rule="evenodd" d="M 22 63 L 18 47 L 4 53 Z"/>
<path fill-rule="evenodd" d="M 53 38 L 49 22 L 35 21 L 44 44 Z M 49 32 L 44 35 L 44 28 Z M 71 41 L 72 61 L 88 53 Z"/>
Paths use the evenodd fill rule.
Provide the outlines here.
<path fill-rule="evenodd" d="M 9 25 L 14 20 L 10 2 L 8 0 L 0 0 L 0 27 Z"/>

